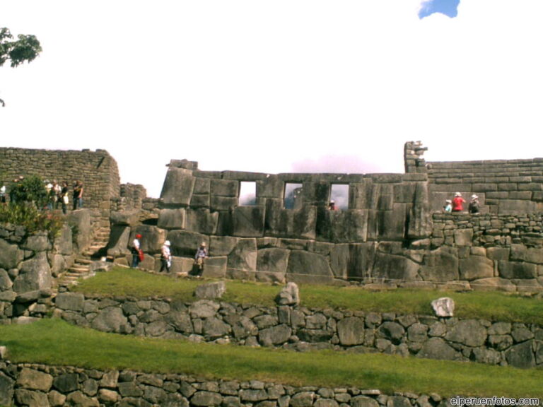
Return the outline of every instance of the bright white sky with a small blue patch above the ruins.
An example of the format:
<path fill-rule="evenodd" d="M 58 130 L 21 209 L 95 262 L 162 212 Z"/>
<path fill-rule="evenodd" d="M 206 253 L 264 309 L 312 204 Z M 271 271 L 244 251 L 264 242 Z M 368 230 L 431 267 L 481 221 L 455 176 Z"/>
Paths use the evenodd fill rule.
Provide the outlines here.
<path fill-rule="evenodd" d="M 171 159 L 404 172 L 543 156 L 541 0 L 0 0 L 42 54 L 0 68 L 0 146 L 107 150 L 158 197 Z"/>

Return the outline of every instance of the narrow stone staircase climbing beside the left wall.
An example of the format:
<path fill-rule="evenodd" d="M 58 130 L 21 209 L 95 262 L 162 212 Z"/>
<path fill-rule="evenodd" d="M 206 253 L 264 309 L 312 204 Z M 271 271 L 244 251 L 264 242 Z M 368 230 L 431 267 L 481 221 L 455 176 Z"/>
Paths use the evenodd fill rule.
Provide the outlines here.
<path fill-rule="evenodd" d="M 74 264 L 59 276 L 57 289 L 64 291 L 70 285 L 77 284 L 79 278 L 91 276 L 91 263 L 107 255 L 107 242 L 109 240 L 110 228 L 101 227 L 95 230 L 93 242 L 76 257 Z"/>

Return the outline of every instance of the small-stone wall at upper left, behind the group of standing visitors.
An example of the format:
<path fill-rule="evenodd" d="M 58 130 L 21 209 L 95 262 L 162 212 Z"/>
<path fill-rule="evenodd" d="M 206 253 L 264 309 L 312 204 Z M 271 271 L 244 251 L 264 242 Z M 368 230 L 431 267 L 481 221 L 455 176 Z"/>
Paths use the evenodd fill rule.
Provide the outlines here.
<path fill-rule="evenodd" d="M 66 181 L 70 191 L 76 179 L 83 182 L 83 206 L 97 211 L 109 225 L 110 199 L 119 196 L 117 162 L 105 150 L 60 151 L 0 148 L 0 182 L 10 187 L 19 175 Z M 71 194 L 69 196 L 71 208 Z"/>

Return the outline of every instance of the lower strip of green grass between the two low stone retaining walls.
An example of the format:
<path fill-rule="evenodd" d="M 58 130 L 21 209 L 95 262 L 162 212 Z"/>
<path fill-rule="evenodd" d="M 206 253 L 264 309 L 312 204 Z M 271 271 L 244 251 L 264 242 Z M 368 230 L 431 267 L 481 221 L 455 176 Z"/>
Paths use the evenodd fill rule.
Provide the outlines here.
<path fill-rule="evenodd" d="M 293 386 L 361 387 L 415 393 L 542 397 L 542 370 L 469 362 L 320 351 L 292 353 L 105 334 L 57 319 L 0 326 L 0 345 L 13 362 L 128 368 L 204 379 L 258 379 Z"/>

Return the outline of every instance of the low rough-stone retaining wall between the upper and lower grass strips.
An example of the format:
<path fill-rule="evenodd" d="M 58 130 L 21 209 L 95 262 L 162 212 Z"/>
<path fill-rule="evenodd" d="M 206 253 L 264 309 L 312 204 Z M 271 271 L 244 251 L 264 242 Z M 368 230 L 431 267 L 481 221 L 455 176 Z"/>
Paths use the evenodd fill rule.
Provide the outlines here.
<path fill-rule="evenodd" d="M 394 353 L 515 367 L 543 365 L 543 329 L 534 324 L 212 300 L 85 298 L 80 293 L 60 293 L 56 307 L 55 313 L 68 322 L 120 334 L 292 350 Z"/>

